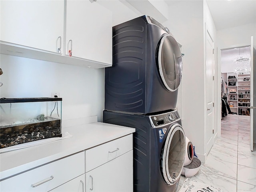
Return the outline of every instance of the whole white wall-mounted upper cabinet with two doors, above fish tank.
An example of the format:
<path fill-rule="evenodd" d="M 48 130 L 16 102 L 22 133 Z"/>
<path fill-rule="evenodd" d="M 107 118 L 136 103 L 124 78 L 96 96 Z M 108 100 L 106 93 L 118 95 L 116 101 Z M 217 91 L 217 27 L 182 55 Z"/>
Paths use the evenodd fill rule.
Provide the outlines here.
<path fill-rule="evenodd" d="M 0 0 L 0 11 L 1 54 L 89 68 L 112 66 L 112 12 L 98 2 Z"/>

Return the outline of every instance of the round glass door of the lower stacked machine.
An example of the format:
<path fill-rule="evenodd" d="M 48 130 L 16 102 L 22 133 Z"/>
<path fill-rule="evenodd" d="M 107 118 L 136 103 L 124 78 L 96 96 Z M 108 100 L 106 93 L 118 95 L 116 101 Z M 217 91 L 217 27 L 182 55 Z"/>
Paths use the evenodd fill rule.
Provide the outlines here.
<path fill-rule="evenodd" d="M 179 124 L 171 126 L 161 152 L 161 172 L 165 182 L 173 185 L 180 178 L 186 152 L 186 138 Z"/>

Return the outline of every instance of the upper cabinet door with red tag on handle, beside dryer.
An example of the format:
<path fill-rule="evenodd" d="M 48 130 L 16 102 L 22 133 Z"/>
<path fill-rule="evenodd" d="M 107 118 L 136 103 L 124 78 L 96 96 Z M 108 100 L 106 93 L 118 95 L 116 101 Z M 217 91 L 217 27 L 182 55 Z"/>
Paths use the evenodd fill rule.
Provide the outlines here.
<path fill-rule="evenodd" d="M 112 64 L 112 12 L 98 2 L 68 0 L 66 54 Z"/>

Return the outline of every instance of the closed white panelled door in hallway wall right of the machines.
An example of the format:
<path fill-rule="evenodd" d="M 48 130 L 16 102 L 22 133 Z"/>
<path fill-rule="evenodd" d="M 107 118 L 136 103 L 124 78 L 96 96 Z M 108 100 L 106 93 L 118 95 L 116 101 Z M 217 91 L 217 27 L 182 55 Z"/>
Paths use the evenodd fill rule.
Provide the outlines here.
<path fill-rule="evenodd" d="M 214 142 L 214 55 L 213 40 L 206 31 L 206 154 L 210 152 Z"/>

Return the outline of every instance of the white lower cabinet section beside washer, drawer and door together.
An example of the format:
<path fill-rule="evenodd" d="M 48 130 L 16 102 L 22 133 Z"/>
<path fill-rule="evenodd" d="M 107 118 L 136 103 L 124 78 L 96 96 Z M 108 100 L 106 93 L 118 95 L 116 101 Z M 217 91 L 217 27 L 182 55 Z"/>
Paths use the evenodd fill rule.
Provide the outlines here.
<path fill-rule="evenodd" d="M 85 151 L 86 192 L 132 192 L 132 134 Z"/>

